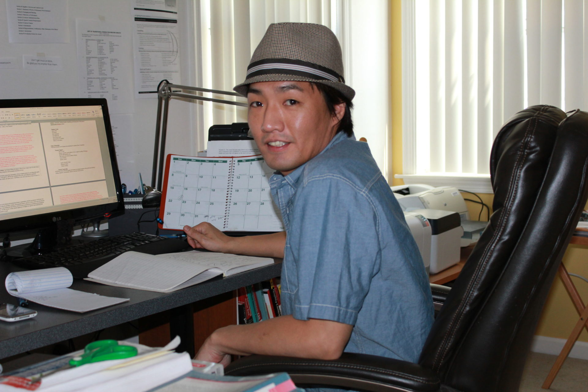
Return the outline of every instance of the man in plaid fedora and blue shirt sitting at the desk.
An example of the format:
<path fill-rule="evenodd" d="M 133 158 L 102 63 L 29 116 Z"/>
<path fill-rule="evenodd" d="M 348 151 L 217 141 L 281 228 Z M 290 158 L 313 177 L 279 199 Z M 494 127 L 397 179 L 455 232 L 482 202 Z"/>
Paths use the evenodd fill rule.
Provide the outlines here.
<path fill-rule="evenodd" d="M 286 232 L 184 229 L 193 247 L 283 257 L 285 316 L 216 330 L 196 359 L 351 351 L 416 361 L 433 320 L 429 282 L 367 143 L 353 137 L 355 91 L 335 35 L 322 25 L 270 25 L 235 91 L 247 97 L 250 132 L 276 170 L 270 187 Z"/>

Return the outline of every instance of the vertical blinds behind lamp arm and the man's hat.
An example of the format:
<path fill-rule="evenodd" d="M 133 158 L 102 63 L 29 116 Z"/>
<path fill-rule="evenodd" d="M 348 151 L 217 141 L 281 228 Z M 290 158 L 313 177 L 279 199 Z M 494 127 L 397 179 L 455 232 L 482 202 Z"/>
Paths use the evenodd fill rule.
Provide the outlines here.
<path fill-rule="evenodd" d="M 322 24 L 337 35 L 337 5 L 337 0 L 201 0 L 196 42 L 202 45 L 202 86 L 232 91 L 244 81 L 251 55 L 271 23 Z M 247 109 L 231 105 L 203 105 L 202 115 L 205 129 L 247 121 Z"/>

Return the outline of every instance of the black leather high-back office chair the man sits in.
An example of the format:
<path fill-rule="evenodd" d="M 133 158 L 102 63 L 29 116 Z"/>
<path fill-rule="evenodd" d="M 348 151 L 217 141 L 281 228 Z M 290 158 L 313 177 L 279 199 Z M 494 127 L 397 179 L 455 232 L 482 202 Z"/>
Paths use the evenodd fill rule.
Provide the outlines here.
<path fill-rule="evenodd" d="M 250 356 L 226 374 L 287 371 L 299 386 L 366 391 L 516 391 L 554 274 L 586 203 L 588 113 L 517 113 L 490 159 L 494 213 L 437 314 L 417 364 L 364 354 L 339 360 Z"/>

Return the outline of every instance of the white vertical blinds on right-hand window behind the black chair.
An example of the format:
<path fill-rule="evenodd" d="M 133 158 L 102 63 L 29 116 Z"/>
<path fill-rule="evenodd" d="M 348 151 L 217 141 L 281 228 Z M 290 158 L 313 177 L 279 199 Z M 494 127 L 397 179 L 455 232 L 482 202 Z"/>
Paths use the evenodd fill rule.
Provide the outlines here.
<path fill-rule="evenodd" d="M 588 0 L 403 0 L 402 18 L 400 177 L 483 177 L 519 110 L 588 110 Z"/>

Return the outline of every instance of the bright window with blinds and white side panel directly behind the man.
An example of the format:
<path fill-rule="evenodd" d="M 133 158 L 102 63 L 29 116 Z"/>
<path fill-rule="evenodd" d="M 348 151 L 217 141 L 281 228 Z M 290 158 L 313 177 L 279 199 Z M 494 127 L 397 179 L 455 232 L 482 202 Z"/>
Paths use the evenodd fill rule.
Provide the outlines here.
<path fill-rule="evenodd" d="M 198 86 L 232 91 L 245 80 L 249 60 L 268 25 L 312 22 L 328 26 L 343 52 L 346 83 L 356 91 L 356 136 L 368 139 L 386 176 L 389 146 L 389 50 L 386 0 L 200 0 L 196 7 L 196 53 L 202 53 Z M 198 58 L 198 54 L 197 54 Z M 226 99 L 227 97 L 218 97 Z M 246 108 L 199 104 L 201 129 L 246 122 Z M 199 135 L 203 147 L 204 132 Z"/>

